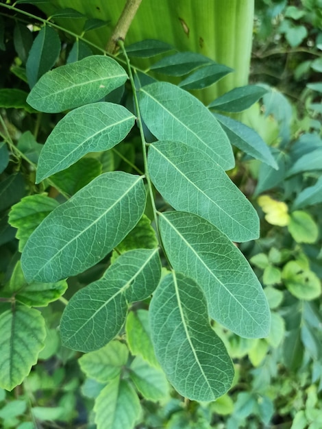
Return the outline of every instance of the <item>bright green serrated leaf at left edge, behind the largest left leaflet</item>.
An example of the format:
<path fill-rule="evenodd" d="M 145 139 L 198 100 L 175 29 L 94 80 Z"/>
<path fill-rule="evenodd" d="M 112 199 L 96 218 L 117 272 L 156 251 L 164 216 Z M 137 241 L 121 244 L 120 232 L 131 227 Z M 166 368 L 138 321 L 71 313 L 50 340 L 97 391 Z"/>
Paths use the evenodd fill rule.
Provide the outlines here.
<path fill-rule="evenodd" d="M 58 201 L 45 194 L 28 195 L 12 206 L 8 221 L 18 229 L 16 238 L 19 240 L 19 252 L 23 251 L 32 232 L 58 206 Z"/>

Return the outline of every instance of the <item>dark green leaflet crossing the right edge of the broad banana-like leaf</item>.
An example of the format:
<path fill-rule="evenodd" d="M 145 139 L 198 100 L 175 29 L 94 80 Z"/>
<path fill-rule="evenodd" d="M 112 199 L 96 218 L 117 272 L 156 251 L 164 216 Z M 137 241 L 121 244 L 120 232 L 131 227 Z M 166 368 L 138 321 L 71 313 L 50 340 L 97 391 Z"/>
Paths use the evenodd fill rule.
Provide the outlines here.
<path fill-rule="evenodd" d="M 212 101 L 208 108 L 221 110 L 222 112 L 242 112 L 251 107 L 266 93 L 267 90 L 262 86 L 240 86 Z"/>

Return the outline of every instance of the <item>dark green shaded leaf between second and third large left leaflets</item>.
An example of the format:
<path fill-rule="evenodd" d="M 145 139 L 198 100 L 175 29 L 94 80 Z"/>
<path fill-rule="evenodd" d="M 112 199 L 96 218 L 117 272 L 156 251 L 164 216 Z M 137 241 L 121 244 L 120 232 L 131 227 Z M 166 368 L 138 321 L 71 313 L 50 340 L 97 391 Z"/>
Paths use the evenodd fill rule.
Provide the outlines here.
<path fill-rule="evenodd" d="M 74 195 L 102 172 L 101 162 L 95 158 L 82 158 L 66 170 L 51 176 L 51 182 L 60 191 Z"/>

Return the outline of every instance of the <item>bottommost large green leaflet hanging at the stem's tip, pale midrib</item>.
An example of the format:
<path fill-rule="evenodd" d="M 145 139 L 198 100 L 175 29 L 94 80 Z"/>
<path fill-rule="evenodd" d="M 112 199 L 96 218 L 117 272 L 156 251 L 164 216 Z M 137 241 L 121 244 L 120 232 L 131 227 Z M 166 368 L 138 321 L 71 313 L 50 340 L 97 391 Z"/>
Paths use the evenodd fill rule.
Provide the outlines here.
<path fill-rule="evenodd" d="M 232 361 L 210 327 L 206 299 L 193 280 L 180 273 L 166 275 L 149 315 L 156 356 L 180 395 L 213 401 L 230 388 Z"/>

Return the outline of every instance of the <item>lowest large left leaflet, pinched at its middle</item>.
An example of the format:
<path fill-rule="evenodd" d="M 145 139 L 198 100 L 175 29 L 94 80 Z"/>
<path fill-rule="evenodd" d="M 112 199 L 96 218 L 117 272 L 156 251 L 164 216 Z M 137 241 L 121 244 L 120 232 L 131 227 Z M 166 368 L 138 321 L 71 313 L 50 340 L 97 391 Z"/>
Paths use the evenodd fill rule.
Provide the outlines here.
<path fill-rule="evenodd" d="M 121 330 L 129 303 L 149 297 L 160 275 L 158 249 L 136 249 L 119 256 L 66 306 L 60 323 L 64 345 L 81 352 L 103 347 Z"/>

